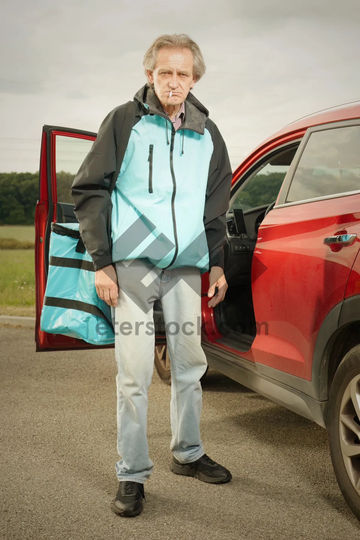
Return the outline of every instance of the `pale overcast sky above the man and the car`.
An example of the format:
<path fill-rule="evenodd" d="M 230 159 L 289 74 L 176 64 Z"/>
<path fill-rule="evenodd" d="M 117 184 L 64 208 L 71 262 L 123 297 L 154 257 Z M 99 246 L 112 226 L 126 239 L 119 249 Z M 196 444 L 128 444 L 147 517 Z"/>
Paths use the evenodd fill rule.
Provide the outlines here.
<path fill-rule="evenodd" d="M 97 131 L 145 83 L 160 33 L 207 65 L 194 95 L 233 168 L 305 114 L 360 99 L 358 0 L 12 0 L 0 17 L 0 172 L 39 167 L 43 124 Z"/>

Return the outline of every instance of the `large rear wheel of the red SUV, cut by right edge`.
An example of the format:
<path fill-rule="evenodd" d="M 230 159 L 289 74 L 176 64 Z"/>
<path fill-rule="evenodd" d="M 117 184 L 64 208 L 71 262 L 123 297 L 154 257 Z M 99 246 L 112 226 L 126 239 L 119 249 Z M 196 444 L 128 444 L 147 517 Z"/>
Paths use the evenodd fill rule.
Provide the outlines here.
<path fill-rule="evenodd" d="M 360 345 L 344 356 L 332 381 L 328 434 L 337 483 L 360 520 Z"/>

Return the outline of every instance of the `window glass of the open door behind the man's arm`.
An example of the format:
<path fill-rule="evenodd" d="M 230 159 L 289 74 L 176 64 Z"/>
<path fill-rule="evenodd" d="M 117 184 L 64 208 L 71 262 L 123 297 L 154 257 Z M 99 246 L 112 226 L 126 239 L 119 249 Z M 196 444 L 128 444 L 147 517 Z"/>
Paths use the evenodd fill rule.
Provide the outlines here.
<path fill-rule="evenodd" d="M 71 185 L 93 141 L 77 137 L 56 136 L 56 189 L 58 203 L 73 204 Z"/>

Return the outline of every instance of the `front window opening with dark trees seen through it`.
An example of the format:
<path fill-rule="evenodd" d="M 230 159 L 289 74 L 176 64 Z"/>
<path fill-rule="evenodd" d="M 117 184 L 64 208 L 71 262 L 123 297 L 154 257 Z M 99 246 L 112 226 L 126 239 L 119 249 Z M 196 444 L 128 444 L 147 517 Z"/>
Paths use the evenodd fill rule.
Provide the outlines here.
<path fill-rule="evenodd" d="M 298 144 L 281 151 L 264 161 L 230 199 L 229 212 L 233 208 L 251 210 L 257 206 L 270 205 L 277 199 L 283 180 L 295 156 Z"/>

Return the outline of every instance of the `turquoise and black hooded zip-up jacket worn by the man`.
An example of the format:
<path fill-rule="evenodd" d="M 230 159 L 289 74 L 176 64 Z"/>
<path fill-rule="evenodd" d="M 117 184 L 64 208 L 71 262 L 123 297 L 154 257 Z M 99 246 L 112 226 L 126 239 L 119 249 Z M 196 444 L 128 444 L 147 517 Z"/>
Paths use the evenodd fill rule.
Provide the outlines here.
<path fill-rule="evenodd" d="M 192 95 L 175 132 L 154 91 L 134 96 L 135 119 L 120 173 L 116 147 L 126 106 L 111 111 L 74 179 L 74 213 L 94 268 L 147 258 L 160 268 L 223 268 L 232 170 L 225 142 Z"/>

